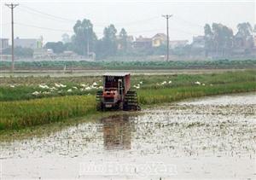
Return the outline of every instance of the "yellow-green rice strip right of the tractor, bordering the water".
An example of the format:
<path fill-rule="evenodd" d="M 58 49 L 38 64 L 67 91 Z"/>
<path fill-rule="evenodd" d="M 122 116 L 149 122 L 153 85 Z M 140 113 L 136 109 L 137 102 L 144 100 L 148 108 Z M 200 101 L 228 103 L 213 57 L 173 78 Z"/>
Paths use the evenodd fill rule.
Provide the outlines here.
<path fill-rule="evenodd" d="M 139 102 L 143 105 L 150 105 L 163 102 L 175 102 L 186 98 L 199 96 L 214 96 L 227 93 L 239 93 L 256 90 L 256 81 L 216 84 L 214 86 L 190 86 L 162 89 L 137 90 Z"/>

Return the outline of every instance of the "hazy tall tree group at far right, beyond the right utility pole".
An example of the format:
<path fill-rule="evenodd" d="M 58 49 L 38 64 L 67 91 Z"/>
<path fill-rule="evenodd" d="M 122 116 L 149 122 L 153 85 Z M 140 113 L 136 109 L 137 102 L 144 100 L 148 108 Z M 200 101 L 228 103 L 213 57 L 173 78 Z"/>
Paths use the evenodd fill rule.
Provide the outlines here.
<path fill-rule="evenodd" d="M 212 23 L 212 26 L 204 26 L 206 55 L 226 56 L 242 53 L 249 54 L 254 46 L 253 32 L 256 25 L 251 26 L 248 22 L 239 23 L 237 32 L 220 23 Z"/>

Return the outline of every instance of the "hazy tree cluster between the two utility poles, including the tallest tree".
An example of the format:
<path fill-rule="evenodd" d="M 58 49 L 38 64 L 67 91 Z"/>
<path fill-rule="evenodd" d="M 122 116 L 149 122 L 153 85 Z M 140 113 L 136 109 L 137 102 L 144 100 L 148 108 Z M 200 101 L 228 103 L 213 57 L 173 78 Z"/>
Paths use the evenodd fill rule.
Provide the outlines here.
<path fill-rule="evenodd" d="M 113 55 L 125 55 L 131 44 L 128 43 L 128 36 L 125 28 L 118 33 L 113 24 L 106 26 L 103 30 L 103 37 L 97 38 L 90 20 L 78 20 L 73 26 L 73 36 L 69 39 L 67 34 L 62 36 L 62 42 L 49 42 L 45 48 L 53 49 L 55 53 L 63 50 L 73 50 L 78 55 L 90 55 L 95 53 L 98 58 L 105 58 Z M 119 46 L 119 47 L 118 47 Z"/>

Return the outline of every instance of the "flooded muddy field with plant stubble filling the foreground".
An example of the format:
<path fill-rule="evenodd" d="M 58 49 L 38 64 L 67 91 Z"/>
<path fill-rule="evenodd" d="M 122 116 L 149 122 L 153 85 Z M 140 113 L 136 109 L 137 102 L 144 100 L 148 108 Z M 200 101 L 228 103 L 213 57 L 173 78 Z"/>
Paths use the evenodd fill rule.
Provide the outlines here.
<path fill-rule="evenodd" d="M 256 94 L 178 102 L 0 144 L 3 178 L 253 179 Z"/>

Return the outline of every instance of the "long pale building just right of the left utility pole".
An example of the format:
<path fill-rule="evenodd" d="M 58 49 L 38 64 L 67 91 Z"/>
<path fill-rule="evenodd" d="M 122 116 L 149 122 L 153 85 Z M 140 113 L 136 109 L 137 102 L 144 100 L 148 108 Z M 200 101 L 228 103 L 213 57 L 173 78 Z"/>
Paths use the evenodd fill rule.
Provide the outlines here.
<path fill-rule="evenodd" d="M 41 49 L 43 38 L 15 38 L 15 47 Z"/>

